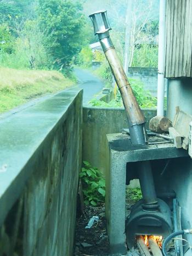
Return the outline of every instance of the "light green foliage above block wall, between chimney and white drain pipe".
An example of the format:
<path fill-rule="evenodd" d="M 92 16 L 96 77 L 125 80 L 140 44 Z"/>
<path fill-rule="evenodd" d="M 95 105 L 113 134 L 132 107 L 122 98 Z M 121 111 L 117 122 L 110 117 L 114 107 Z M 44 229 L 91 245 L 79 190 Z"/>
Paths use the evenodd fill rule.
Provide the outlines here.
<path fill-rule="evenodd" d="M 135 47 L 132 66 L 140 68 L 157 68 L 158 66 L 158 46 L 142 44 Z"/>

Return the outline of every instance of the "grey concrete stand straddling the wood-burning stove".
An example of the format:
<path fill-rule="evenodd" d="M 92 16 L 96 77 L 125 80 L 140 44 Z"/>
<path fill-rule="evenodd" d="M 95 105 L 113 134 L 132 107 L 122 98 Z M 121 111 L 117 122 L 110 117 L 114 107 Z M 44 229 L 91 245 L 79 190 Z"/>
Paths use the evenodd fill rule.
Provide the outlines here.
<path fill-rule="evenodd" d="M 189 157 L 184 149 L 172 143 L 132 146 L 123 133 L 107 135 L 106 158 L 106 223 L 111 253 L 126 254 L 126 166 L 144 160 Z"/>

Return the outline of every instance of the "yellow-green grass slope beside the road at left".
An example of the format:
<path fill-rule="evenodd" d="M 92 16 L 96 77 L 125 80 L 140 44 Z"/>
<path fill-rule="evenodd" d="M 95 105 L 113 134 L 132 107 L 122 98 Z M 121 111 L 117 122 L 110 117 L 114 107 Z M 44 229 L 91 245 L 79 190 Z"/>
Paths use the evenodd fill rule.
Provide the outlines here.
<path fill-rule="evenodd" d="M 0 68 L 0 113 L 73 84 L 58 71 Z"/>

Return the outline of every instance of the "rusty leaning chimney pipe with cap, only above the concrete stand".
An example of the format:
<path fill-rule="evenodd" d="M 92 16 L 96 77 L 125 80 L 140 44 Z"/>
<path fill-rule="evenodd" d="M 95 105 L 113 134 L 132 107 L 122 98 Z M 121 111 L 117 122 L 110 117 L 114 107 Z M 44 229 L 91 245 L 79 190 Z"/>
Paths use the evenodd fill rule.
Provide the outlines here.
<path fill-rule="evenodd" d="M 109 35 L 109 30 L 111 30 L 111 27 L 109 25 L 106 11 L 101 10 L 89 15 L 89 17 L 93 22 L 95 35 L 98 35 L 99 37 L 101 47 L 103 48 L 118 89 L 120 90 L 123 105 L 128 118 L 132 144 L 145 144 L 145 119 L 142 111 L 140 110 L 139 104 L 134 97 L 133 90 L 123 70 L 122 64 L 117 57 L 114 44 L 111 41 Z"/>

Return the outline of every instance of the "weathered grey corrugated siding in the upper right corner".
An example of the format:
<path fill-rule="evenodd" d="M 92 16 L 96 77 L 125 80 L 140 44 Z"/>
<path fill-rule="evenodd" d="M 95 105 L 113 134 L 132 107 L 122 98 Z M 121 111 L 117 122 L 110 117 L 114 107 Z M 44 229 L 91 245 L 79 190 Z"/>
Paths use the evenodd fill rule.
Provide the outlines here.
<path fill-rule="evenodd" d="M 165 77 L 192 77 L 192 0 L 167 0 Z"/>

